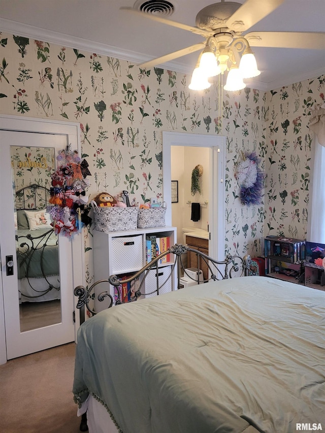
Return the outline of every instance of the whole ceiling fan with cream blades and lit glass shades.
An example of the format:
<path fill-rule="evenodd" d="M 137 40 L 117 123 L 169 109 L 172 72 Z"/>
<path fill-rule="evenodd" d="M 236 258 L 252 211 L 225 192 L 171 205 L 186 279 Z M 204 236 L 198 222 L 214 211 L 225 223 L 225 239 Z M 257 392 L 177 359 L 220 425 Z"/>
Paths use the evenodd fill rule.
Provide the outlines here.
<path fill-rule="evenodd" d="M 263 0 L 263 2 L 246 0 L 241 4 L 221 0 L 220 3 L 207 6 L 198 13 L 196 27 L 163 18 L 159 10 L 150 14 L 135 8 L 121 7 L 120 9 L 191 31 L 205 38 L 204 42 L 142 63 L 139 65 L 140 68 L 150 68 L 201 50 L 188 87 L 193 90 L 208 88 L 211 85 L 208 81 L 209 77 L 229 71 L 224 89 L 240 90 L 246 86 L 243 79 L 260 74 L 251 47 L 304 49 L 325 47 L 325 33 L 320 32 L 252 31 L 245 34 L 283 2 L 284 0 Z"/>

